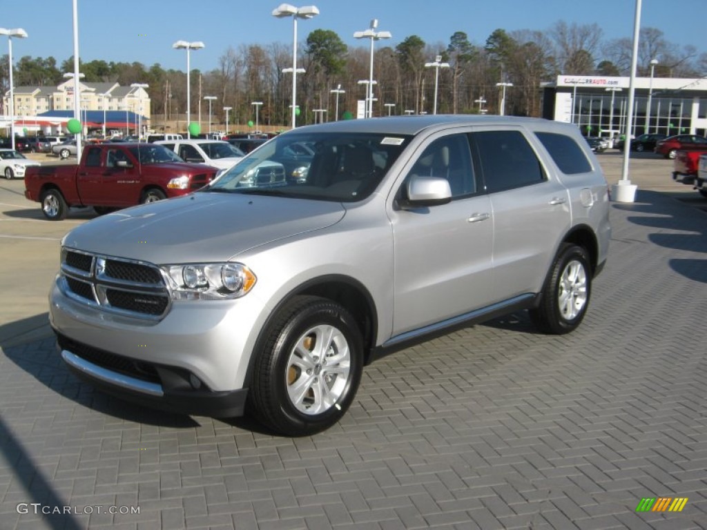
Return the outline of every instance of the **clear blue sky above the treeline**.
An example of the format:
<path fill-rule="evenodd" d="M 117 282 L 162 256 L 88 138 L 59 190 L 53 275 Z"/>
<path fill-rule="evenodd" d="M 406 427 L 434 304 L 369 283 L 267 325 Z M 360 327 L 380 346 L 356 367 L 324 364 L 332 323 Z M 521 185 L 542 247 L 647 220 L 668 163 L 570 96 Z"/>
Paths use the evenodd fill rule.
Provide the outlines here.
<path fill-rule="evenodd" d="M 85 61 L 139 61 L 159 63 L 165 69 L 186 68 L 183 50 L 175 40 L 201 40 L 206 48 L 192 52 L 192 68 L 209 71 L 218 66 L 229 46 L 292 42 L 292 20 L 271 16 L 279 0 L 78 0 L 79 55 Z M 71 0 L 10 2 L 0 15 L 0 26 L 24 28 L 25 40 L 13 40 L 13 58 L 53 56 L 59 63 L 71 57 Z M 315 29 L 333 30 L 351 47 L 368 42 L 354 39 L 371 18 L 378 29 L 392 33 L 386 44 L 395 46 L 410 35 L 428 44 L 446 45 L 455 31 L 483 45 L 493 30 L 547 30 L 558 20 L 597 23 L 604 40 L 631 37 L 636 0 L 313 0 L 320 16 L 298 23 L 298 42 Z M 678 45 L 704 44 L 707 0 L 643 0 L 641 25 L 662 30 Z M 0 54 L 7 53 L 0 45 Z"/>

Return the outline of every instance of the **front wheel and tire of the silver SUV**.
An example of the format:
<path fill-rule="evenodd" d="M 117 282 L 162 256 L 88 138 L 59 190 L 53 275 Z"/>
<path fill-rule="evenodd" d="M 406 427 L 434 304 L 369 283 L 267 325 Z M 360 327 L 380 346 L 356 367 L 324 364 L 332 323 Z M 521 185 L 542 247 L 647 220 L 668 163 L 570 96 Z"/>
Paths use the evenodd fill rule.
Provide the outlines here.
<path fill-rule="evenodd" d="M 262 343 L 249 393 L 261 423 L 302 436 L 344 416 L 363 371 L 361 331 L 344 307 L 315 296 L 293 298 L 276 314 Z"/>

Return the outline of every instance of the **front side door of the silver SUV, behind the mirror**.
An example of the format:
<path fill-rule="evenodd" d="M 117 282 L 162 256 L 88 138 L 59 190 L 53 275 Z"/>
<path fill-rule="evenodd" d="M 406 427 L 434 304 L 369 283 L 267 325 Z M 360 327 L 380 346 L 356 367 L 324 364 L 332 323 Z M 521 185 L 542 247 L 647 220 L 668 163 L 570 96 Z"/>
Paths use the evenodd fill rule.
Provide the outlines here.
<path fill-rule="evenodd" d="M 417 153 L 399 197 L 413 175 L 424 175 L 448 179 L 452 201 L 390 211 L 393 336 L 467 314 L 493 298 L 491 204 L 474 175 L 467 134 L 433 137 Z"/>

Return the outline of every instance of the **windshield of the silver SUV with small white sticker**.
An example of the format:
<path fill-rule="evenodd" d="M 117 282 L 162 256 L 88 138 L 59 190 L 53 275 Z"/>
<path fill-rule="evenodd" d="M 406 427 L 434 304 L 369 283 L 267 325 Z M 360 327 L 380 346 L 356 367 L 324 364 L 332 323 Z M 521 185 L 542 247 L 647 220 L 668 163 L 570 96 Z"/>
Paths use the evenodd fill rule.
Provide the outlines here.
<path fill-rule="evenodd" d="M 203 192 L 366 199 L 409 141 L 370 133 L 288 133 L 264 143 Z"/>

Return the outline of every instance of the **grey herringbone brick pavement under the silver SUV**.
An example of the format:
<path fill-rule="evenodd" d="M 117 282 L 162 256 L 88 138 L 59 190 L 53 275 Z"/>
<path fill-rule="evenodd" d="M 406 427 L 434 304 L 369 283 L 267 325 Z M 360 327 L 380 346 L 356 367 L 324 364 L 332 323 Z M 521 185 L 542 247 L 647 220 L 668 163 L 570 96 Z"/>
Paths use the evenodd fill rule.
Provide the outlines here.
<path fill-rule="evenodd" d="M 0 529 L 707 528 L 707 215 L 655 192 L 611 215 L 575 333 L 518 313 L 401 351 L 312 437 L 111 399 L 48 339 L 3 348 Z"/>

